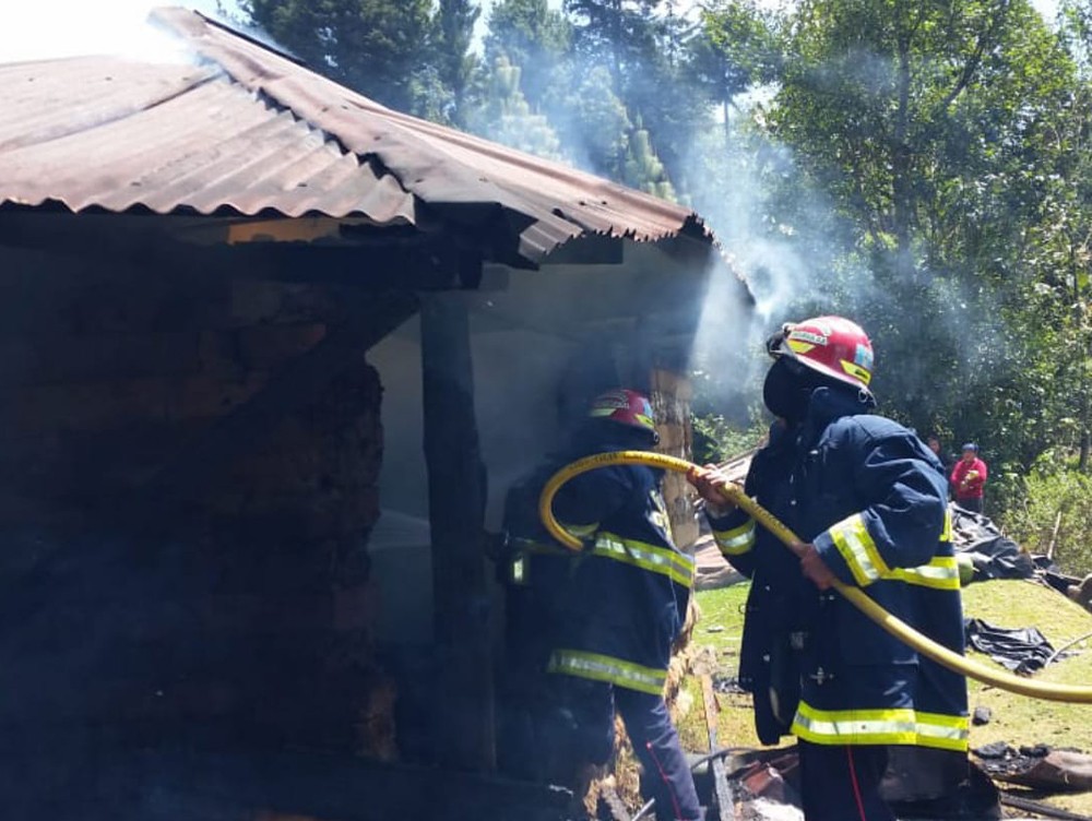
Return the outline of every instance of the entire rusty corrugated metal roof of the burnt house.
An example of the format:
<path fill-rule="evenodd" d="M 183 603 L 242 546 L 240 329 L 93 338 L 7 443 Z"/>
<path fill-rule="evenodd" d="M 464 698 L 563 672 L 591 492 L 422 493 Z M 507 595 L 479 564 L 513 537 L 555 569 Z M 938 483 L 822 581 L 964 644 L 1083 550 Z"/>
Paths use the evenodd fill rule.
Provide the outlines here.
<path fill-rule="evenodd" d="M 193 64 L 0 66 L 0 203 L 379 224 L 416 224 L 425 203 L 531 261 L 585 234 L 707 236 L 687 209 L 393 111 L 197 12 L 153 20 Z"/>

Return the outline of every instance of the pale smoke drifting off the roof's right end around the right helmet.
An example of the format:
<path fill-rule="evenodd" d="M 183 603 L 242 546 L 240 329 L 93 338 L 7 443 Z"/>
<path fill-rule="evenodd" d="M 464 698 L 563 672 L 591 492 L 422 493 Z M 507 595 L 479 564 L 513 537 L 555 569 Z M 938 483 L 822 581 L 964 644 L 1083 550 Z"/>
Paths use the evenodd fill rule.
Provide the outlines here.
<path fill-rule="evenodd" d="M 953 272 L 890 255 L 878 264 L 881 255 L 862 248 L 793 152 L 761 128 L 771 96 L 738 99 L 732 127 L 722 121 L 707 131 L 685 158 L 692 204 L 756 301 L 753 311 L 741 311 L 731 288 L 711 281 L 693 352 L 707 401 L 736 424 L 749 421 L 769 365 L 765 335 L 786 321 L 833 313 L 873 337 L 881 403 L 927 424 L 946 395 L 996 378 L 1006 349 L 1002 313 L 988 289 Z"/>

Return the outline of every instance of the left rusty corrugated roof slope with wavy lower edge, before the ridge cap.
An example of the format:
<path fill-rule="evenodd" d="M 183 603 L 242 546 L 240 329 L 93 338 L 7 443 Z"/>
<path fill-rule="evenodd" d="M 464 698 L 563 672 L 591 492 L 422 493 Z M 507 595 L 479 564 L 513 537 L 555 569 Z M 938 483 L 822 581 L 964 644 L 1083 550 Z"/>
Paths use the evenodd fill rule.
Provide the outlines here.
<path fill-rule="evenodd" d="M 0 66 L 0 198 L 72 211 L 318 211 L 414 222 L 389 171 L 212 64 Z"/>

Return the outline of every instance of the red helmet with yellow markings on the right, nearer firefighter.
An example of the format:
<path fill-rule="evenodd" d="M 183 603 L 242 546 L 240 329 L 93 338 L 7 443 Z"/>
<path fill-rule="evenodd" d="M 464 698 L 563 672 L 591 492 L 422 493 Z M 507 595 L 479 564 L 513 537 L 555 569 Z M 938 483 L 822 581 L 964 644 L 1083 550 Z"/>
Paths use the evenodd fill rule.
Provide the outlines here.
<path fill-rule="evenodd" d="M 767 343 L 770 356 L 790 357 L 811 370 L 868 392 L 873 343 L 860 325 L 843 317 L 787 322 Z"/>

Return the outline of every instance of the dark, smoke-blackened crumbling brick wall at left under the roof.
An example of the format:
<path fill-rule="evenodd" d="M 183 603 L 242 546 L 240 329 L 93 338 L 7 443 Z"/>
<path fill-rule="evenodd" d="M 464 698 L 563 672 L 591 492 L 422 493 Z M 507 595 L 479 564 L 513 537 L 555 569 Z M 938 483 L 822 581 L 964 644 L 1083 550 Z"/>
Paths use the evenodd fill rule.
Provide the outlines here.
<path fill-rule="evenodd" d="M 320 287 L 0 248 L 9 738 L 50 724 L 73 758 L 129 742 L 393 755 L 365 549 L 381 386 L 363 355 L 142 510 L 157 471 L 323 338 L 337 306 Z"/>

